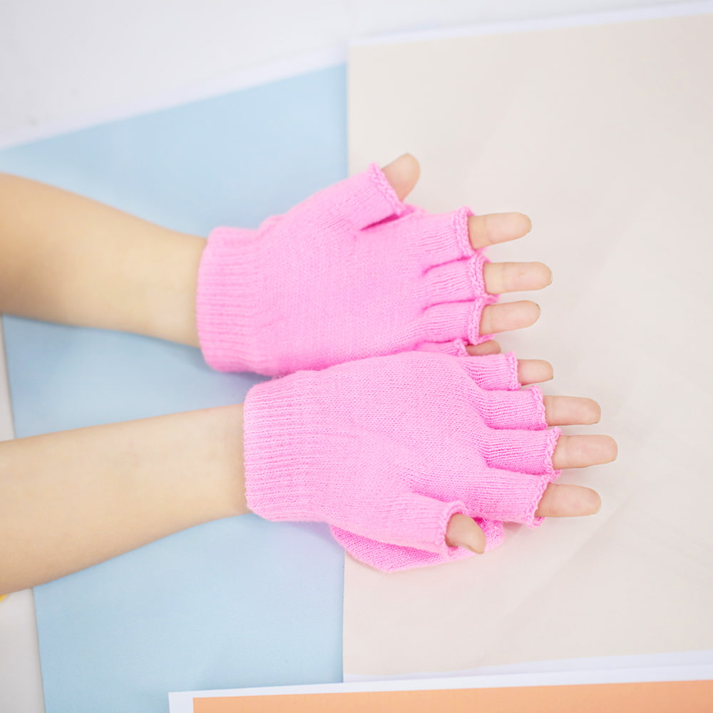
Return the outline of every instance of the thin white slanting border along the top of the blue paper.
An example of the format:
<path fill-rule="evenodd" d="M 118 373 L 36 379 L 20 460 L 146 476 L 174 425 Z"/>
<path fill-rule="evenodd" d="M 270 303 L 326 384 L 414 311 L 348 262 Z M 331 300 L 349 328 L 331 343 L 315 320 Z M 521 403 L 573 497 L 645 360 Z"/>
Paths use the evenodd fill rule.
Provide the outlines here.
<path fill-rule="evenodd" d="M 106 109 L 91 111 L 78 116 L 62 118 L 39 126 L 25 126 L 0 135 L 0 150 L 39 141 L 46 138 L 91 128 L 118 119 L 130 118 L 183 106 L 193 101 L 210 99 L 267 84 L 280 79 L 299 76 L 308 72 L 327 69 L 347 62 L 346 46 L 329 47 L 299 56 L 281 59 L 257 67 L 251 67 L 225 76 L 202 80 L 190 86 L 160 92 L 154 96 L 120 104 Z"/>

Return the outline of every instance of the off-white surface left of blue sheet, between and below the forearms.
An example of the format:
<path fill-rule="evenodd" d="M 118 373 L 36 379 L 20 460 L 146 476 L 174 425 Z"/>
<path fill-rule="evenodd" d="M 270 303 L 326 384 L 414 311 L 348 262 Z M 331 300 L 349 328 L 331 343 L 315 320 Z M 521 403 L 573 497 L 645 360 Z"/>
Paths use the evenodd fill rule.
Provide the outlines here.
<path fill-rule="evenodd" d="M 14 438 L 0 319 L 0 441 Z M 43 713 L 42 678 L 32 590 L 0 602 L 0 711 Z"/>

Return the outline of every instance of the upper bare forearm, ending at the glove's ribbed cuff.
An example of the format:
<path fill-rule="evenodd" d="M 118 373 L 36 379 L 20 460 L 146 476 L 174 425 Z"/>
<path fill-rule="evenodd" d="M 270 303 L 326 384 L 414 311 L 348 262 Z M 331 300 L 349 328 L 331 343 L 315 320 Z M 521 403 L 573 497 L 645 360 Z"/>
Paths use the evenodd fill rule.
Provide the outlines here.
<path fill-rule="evenodd" d="M 198 346 L 205 240 L 0 174 L 0 312 Z"/>

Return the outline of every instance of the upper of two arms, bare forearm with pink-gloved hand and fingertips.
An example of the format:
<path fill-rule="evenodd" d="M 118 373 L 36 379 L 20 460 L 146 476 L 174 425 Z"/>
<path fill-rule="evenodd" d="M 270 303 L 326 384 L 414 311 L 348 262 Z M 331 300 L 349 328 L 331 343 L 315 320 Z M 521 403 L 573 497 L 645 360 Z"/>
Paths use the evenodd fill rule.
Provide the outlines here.
<path fill-rule="evenodd" d="M 535 322 L 533 302 L 490 303 L 545 287 L 548 268 L 490 264 L 481 252 L 525 235 L 528 217 L 424 215 L 402 202 L 419 175 L 410 155 L 371 175 L 376 184 L 355 176 L 260 230 L 217 229 L 206 249 L 202 237 L 0 174 L 0 312 L 195 347 L 198 321 L 210 364 L 265 374 L 453 351 L 458 339 L 491 353 L 483 335 Z M 361 195 L 350 190 L 360 181 Z"/>

